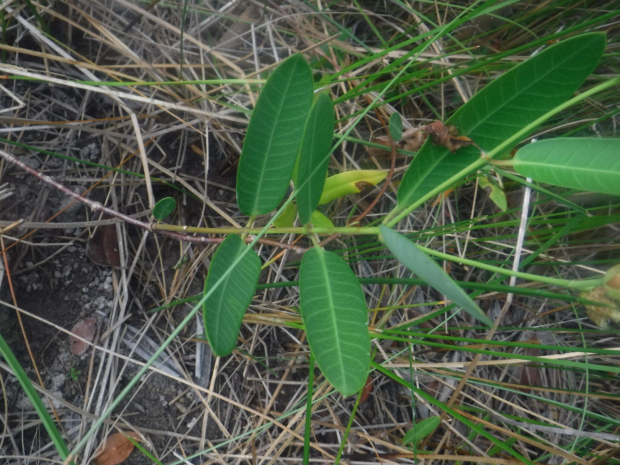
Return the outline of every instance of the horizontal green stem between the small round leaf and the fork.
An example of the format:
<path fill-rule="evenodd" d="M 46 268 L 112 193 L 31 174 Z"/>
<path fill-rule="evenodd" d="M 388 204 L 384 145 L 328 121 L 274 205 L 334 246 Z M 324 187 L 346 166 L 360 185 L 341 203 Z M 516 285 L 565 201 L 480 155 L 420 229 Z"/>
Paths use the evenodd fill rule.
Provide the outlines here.
<path fill-rule="evenodd" d="M 153 225 L 153 229 L 164 229 L 166 231 L 179 232 L 199 232 L 201 234 L 259 234 L 263 228 L 197 228 L 195 226 L 178 226 L 176 224 Z M 311 226 L 302 226 L 301 228 L 269 228 L 266 234 L 379 234 L 379 228 L 374 226 L 365 226 L 360 228 L 315 228 Z"/>

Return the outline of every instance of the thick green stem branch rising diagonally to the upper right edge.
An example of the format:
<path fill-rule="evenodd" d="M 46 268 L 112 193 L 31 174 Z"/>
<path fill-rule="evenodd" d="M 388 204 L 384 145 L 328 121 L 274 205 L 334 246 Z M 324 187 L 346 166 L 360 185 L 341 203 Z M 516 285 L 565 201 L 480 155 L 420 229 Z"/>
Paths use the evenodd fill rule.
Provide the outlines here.
<path fill-rule="evenodd" d="M 423 197 L 421 197 L 420 199 L 412 203 L 412 205 L 409 205 L 407 208 L 405 208 L 405 210 L 403 210 L 398 215 L 396 215 L 396 213 L 399 210 L 401 210 L 402 206 L 397 205 L 396 207 L 394 207 L 394 209 L 387 215 L 386 219 L 384 219 L 383 224 L 391 228 L 392 226 L 394 226 L 394 224 L 397 224 L 399 221 L 401 221 L 401 219 L 405 218 L 405 216 L 409 215 L 409 213 L 414 211 L 416 208 L 418 208 L 418 206 L 422 205 L 422 203 L 427 201 L 429 198 L 432 198 L 438 193 L 448 190 L 454 184 L 459 182 L 459 180 L 464 179 L 464 177 L 466 177 L 467 175 L 471 174 L 472 172 L 488 164 L 489 159 L 492 159 L 498 154 L 504 153 L 506 149 L 508 149 L 510 146 L 520 141 L 522 138 L 528 135 L 531 131 L 533 131 L 539 125 L 544 123 L 547 119 L 551 118 L 553 115 L 556 115 L 556 113 L 559 113 L 562 110 L 565 110 L 566 108 L 571 107 L 572 105 L 576 104 L 577 102 L 580 102 L 583 99 L 587 99 L 587 97 L 590 97 L 591 95 L 598 94 L 598 92 L 604 91 L 605 89 L 608 89 L 608 87 L 617 86 L 618 84 L 620 84 L 620 76 L 616 76 L 613 79 L 609 79 L 609 81 L 603 82 L 602 84 L 598 84 L 598 86 L 592 87 L 591 89 L 588 89 L 588 91 L 585 91 L 582 94 L 577 95 L 577 97 L 573 97 L 572 99 L 567 100 L 562 105 L 558 105 L 556 108 L 554 108 L 553 110 L 550 110 L 549 112 L 545 113 L 544 115 L 537 118 L 533 122 L 529 123 L 527 126 L 522 128 L 521 130 L 516 131 L 515 134 L 513 134 L 508 139 L 506 139 L 501 144 L 499 144 L 497 147 L 492 149 L 492 151 L 487 152 L 487 153 L 483 152 L 482 156 L 477 161 L 473 162 L 469 166 L 460 170 L 453 177 L 451 177 L 450 179 L 446 180 L 445 182 L 435 187 L 433 190 L 428 192 L 426 195 L 424 195 Z M 503 270 L 503 273 L 505 273 L 506 271 L 507 270 Z"/>

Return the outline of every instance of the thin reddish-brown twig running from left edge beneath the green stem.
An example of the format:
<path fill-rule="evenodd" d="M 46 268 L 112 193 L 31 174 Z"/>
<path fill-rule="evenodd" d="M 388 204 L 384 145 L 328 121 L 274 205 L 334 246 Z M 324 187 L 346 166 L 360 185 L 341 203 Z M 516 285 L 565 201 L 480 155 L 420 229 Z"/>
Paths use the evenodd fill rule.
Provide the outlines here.
<path fill-rule="evenodd" d="M 28 166 L 23 161 L 17 159 L 17 157 L 15 157 L 13 154 L 5 152 L 4 150 L 0 150 L 0 157 L 5 159 L 7 162 L 14 164 L 15 166 L 19 166 L 28 174 L 31 174 L 45 182 L 45 184 L 48 184 L 51 187 L 60 190 L 60 192 L 64 193 L 64 195 L 73 197 L 76 200 L 81 201 L 85 205 L 88 205 L 89 207 L 91 207 L 92 211 L 101 211 L 103 213 L 107 213 L 110 216 L 122 219 L 123 221 L 133 224 L 134 226 L 138 226 L 138 228 L 146 229 L 149 232 L 156 232 L 157 234 L 161 234 L 162 236 L 177 239 L 177 241 L 193 242 L 194 244 L 220 244 L 224 240 L 224 237 L 187 236 L 186 234 L 182 234 L 180 232 L 165 231 L 163 229 L 153 229 L 153 223 L 146 223 L 145 221 L 141 221 L 137 218 L 132 218 L 129 215 L 120 213 L 120 211 L 108 208 L 99 201 L 91 200 L 90 198 L 79 195 L 79 193 L 73 192 L 73 190 L 54 180 L 50 175 L 43 174 L 42 172 L 34 169 L 33 167 Z M 252 238 L 247 237 L 246 242 L 252 242 Z M 272 239 L 259 239 L 258 242 L 267 246 L 293 250 L 293 252 L 295 252 L 296 254 L 303 254 L 303 252 L 306 252 L 306 249 L 304 247 L 294 246 L 293 244 L 284 244 L 283 242 L 273 241 Z"/>

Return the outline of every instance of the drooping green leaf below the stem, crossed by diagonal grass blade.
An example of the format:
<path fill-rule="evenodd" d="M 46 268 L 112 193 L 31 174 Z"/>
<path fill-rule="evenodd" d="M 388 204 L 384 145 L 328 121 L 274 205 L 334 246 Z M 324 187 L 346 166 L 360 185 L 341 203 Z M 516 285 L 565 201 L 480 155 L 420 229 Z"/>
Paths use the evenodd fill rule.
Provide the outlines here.
<path fill-rule="evenodd" d="M 203 304 L 206 339 L 213 353 L 218 356 L 226 356 L 232 352 L 241 321 L 259 282 L 260 259 L 253 250 L 242 257 L 226 278 L 222 278 L 230 264 L 246 248 L 241 237 L 229 234 L 219 244 L 206 275 L 205 292 L 210 286 L 223 280 Z"/>

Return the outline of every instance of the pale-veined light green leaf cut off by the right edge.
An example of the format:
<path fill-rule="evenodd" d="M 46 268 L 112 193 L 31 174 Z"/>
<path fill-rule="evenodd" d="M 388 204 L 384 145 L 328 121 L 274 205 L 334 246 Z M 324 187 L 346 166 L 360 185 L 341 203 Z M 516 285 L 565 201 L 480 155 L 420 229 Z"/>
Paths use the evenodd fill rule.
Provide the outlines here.
<path fill-rule="evenodd" d="M 618 154 L 620 139 L 545 139 L 519 149 L 513 167 L 546 184 L 620 195 Z"/>

